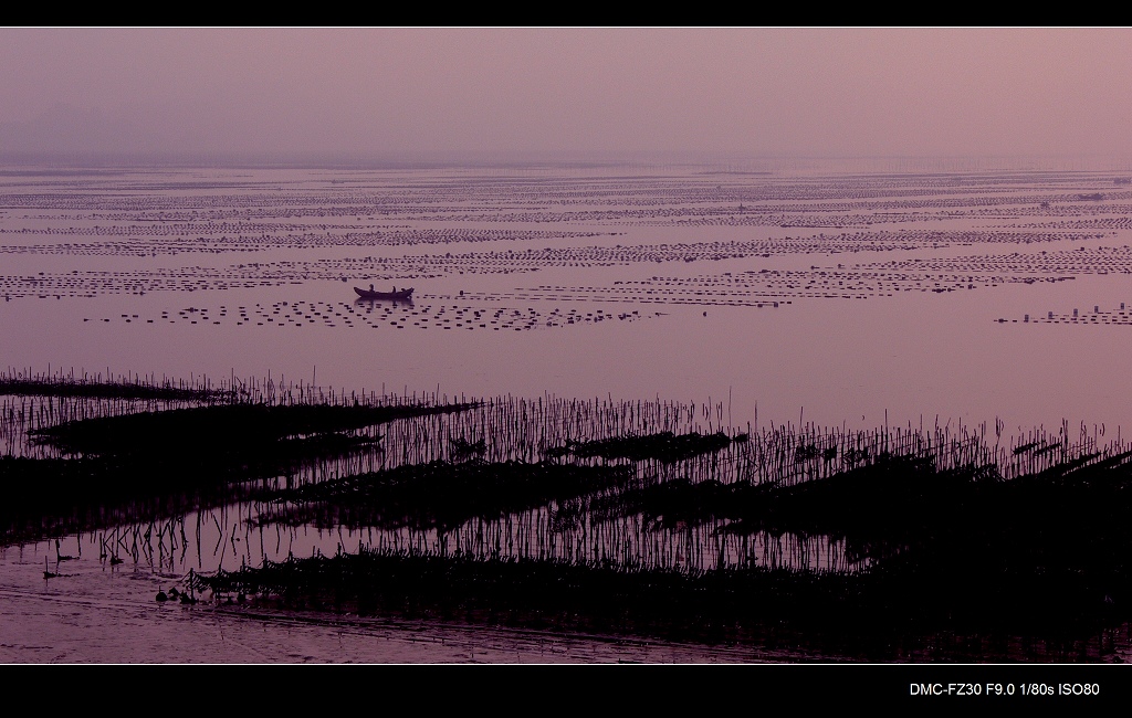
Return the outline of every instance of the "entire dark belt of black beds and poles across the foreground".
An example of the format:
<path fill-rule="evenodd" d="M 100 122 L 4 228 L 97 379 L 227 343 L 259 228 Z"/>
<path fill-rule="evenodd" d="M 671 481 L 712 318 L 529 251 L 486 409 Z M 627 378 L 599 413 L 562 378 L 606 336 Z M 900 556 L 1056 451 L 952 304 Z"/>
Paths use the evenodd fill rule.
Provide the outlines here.
<path fill-rule="evenodd" d="M 985 427 L 729 436 L 638 431 L 686 426 L 695 412 L 677 406 L 511 398 L 238 401 L 44 425 L 71 415 L 51 401 L 0 416 L 0 435 L 18 425 L 61 455 L 0 457 L 7 543 L 111 527 L 127 507 L 249 500 L 249 525 L 377 533 L 357 554 L 195 573 L 192 590 L 883 660 L 1001 659 L 1019 641 L 1094 660 L 1096 637 L 1132 621 L 1132 451 L 1070 444 L 1066 427 L 1006 447 Z M 580 427 L 593 438 L 565 439 Z M 302 468 L 355 453 L 368 458 Z M 844 560 L 770 565 L 748 551 L 781 537 L 837 543 Z M 728 546 L 745 557 L 724 560 Z"/>

